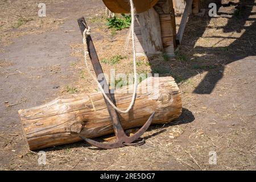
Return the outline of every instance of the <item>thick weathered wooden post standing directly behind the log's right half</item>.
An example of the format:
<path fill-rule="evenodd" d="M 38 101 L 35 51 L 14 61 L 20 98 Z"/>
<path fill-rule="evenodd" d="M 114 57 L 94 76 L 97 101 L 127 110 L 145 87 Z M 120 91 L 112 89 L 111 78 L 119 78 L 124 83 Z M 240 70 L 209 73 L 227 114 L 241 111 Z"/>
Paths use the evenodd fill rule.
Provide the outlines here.
<path fill-rule="evenodd" d="M 135 15 L 134 34 L 137 56 L 174 56 L 176 26 L 172 0 L 159 0 L 150 10 Z"/>

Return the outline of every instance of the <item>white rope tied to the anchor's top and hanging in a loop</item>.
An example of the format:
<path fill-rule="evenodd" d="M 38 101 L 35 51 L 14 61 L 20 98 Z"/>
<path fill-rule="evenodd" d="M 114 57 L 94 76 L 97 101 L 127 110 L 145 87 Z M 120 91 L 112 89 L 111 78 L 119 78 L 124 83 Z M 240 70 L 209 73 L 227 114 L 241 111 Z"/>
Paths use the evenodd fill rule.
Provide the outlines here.
<path fill-rule="evenodd" d="M 85 28 L 84 33 L 83 33 L 83 39 L 82 42 L 84 43 L 84 60 L 85 60 L 85 65 L 86 65 L 86 69 L 88 70 L 88 72 L 90 73 L 90 76 L 97 82 L 98 84 L 98 88 L 100 88 L 103 96 L 106 98 L 106 100 L 109 102 L 109 104 L 118 111 L 118 113 L 129 113 L 129 111 L 133 108 L 134 103 L 135 103 L 135 99 L 136 99 L 136 93 L 137 93 L 137 68 L 136 68 L 136 51 L 135 51 L 135 41 L 134 41 L 134 13 L 135 13 L 135 8 L 134 8 L 134 3 L 133 0 L 130 0 L 130 5 L 131 5 L 131 39 L 132 39 L 132 43 L 133 43 L 133 69 L 134 69 L 134 87 L 133 87 L 133 97 L 131 98 L 131 103 L 129 105 L 129 107 L 126 110 L 120 110 L 118 109 L 117 106 L 114 105 L 114 103 L 112 101 L 110 101 L 110 99 L 108 98 L 108 96 L 106 95 L 106 93 L 104 92 L 104 89 L 102 88 L 100 82 L 98 82 L 98 79 L 96 76 L 93 75 L 93 73 L 90 71 L 89 65 L 88 65 L 88 61 L 87 61 L 87 57 L 88 57 L 88 47 L 86 44 L 86 38 L 88 35 L 91 34 L 91 28 L 88 27 L 88 29 Z"/>

